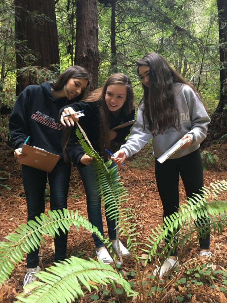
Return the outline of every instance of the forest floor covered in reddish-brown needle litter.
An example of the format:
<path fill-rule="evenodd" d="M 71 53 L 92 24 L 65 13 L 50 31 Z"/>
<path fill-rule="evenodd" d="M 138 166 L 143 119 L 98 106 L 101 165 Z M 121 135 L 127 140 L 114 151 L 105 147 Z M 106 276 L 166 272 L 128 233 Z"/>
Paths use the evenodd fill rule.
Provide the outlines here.
<path fill-rule="evenodd" d="M 227 144 L 215 145 L 207 148 L 207 150 L 214 152 L 219 156 L 219 164 L 212 170 L 204 171 L 204 183 L 209 186 L 211 182 L 215 180 L 226 179 L 227 169 Z M 11 175 L 7 177 L 3 184 L 7 184 L 11 190 L 4 188 L 2 190 L 2 196 L 0 196 L 0 240 L 5 241 L 4 237 L 9 232 L 13 232 L 14 229 L 21 223 L 26 222 L 27 209 L 25 195 L 21 180 L 20 165 L 13 157 L 12 151 L 0 150 L 0 165 L 2 171 L 7 171 Z M 146 146 L 145 149 L 140 151 L 137 155 L 133 156 L 129 160 L 125 161 L 125 167 L 119 168 L 119 175 L 124 182 L 125 187 L 130 192 L 129 205 L 135 210 L 135 222 L 137 223 L 137 230 L 140 231 L 140 241 L 146 241 L 146 237 L 150 234 L 150 230 L 155 228 L 158 224 L 162 223 L 162 205 L 160 197 L 157 191 L 155 177 L 154 177 L 154 161 L 152 156 L 151 147 Z M 49 190 L 47 188 L 47 203 L 46 209 L 49 209 Z M 183 202 L 186 199 L 185 191 L 182 181 L 179 184 L 179 196 L 180 201 Z M 227 200 L 227 193 L 224 192 L 220 199 Z M 87 217 L 86 209 L 86 197 L 84 194 L 84 188 L 82 181 L 77 173 L 77 169 L 73 168 L 71 174 L 71 183 L 68 195 L 68 209 L 74 211 L 78 209 L 79 213 Z M 104 217 L 104 216 L 103 216 Z M 107 236 L 107 226 L 104 221 L 104 232 Z M 51 238 L 46 239 L 46 246 L 40 249 L 40 266 L 41 269 L 48 267 L 53 262 L 54 256 L 54 243 Z M 126 238 L 121 237 L 121 241 L 126 244 Z M 227 231 L 224 229 L 222 235 L 211 235 L 212 252 L 215 252 L 215 262 L 217 262 L 217 269 L 225 271 L 227 268 Z M 187 254 L 182 258 L 181 263 L 185 260 L 192 258 L 198 254 L 198 244 L 195 243 L 187 251 Z M 72 228 L 68 235 L 67 244 L 67 256 L 75 255 L 81 258 L 95 258 L 93 239 L 88 231 L 84 231 L 82 228 L 77 231 Z M 146 273 L 149 272 L 149 266 Z M 128 281 L 134 280 L 133 269 L 135 265 L 132 258 L 124 258 L 123 272 L 131 273 L 127 276 Z M 22 283 L 25 275 L 25 256 L 21 263 L 15 266 L 10 279 L 0 288 L 0 302 L 8 303 L 15 300 L 15 296 L 22 292 Z M 226 279 L 226 278 L 225 278 Z M 226 280 L 227 281 L 227 280 Z M 200 283 L 201 284 L 201 283 Z M 211 288 L 210 283 L 197 283 L 192 292 L 191 299 L 185 302 L 227 302 L 227 287 L 219 283 L 219 280 L 215 280 L 215 287 Z M 172 286 L 172 288 L 176 286 Z M 222 287 L 222 288 L 219 288 Z M 223 288 L 224 287 L 224 288 Z M 179 286 L 178 290 L 181 288 Z M 222 290 L 222 291 L 221 291 Z M 170 289 L 173 292 L 174 290 Z M 80 299 L 79 302 L 92 302 L 93 299 L 90 296 L 93 294 L 98 295 L 97 302 L 110 302 L 116 299 L 114 294 L 104 296 L 100 292 L 93 291 L 90 294 L 88 291 L 84 291 L 85 297 Z M 95 298 L 95 297 L 93 297 Z M 181 301 L 183 301 L 181 299 Z M 116 300 L 117 302 L 117 300 Z M 152 302 L 152 301 L 149 301 Z M 168 301 L 169 302 L 169 301 Z"/>

